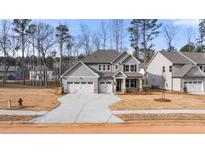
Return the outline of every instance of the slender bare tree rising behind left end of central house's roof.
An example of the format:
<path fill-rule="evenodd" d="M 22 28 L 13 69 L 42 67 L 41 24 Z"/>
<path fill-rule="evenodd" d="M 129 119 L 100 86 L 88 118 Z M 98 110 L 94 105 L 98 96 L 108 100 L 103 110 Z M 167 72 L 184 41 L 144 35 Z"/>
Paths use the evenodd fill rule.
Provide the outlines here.
<path fill-rule="evenodd" d="M 88 25 L 81 25 L 81 35 L 79 36 L 79 43 L 81 44 L 81 48 L 85 51 L 85 55 L 89 55 L 91 53 L 91 33 Z"/>

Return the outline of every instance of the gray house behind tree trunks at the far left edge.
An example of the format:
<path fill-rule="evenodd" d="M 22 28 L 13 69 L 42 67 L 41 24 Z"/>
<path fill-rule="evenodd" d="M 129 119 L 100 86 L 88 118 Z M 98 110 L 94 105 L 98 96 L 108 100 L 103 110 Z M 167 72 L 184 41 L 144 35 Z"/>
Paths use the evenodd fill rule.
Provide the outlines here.
<path fill-rule="evenodd" d="M 5 74 L 5 66 L 0 66 L 0 79 L 4 78 Z M 22 78 L 22 70 L 19 66 L 9 66 L 8 71 L 6 73 L 6 77 L 8 80 L 20 80 Z"/>

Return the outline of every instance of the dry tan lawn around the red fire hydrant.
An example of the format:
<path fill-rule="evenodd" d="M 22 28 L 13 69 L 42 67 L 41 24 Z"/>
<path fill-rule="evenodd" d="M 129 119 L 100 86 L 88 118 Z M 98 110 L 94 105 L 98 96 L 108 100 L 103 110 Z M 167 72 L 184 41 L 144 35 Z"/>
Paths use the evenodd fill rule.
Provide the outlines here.
<path fill-rule="evenodd" d="M 0 88 L 0 109 L 8 109 L 8 99 L 12 109 L 49 111 L 59 105 L 58 89 L 44 88 Z M 23 107 L 19 108 L 17 100 L 23 99 Z"/>

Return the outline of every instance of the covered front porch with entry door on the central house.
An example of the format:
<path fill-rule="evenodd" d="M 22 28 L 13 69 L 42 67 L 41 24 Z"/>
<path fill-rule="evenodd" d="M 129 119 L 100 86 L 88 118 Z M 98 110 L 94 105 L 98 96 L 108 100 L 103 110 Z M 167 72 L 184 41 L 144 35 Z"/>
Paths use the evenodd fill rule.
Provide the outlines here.
<path fill-rule="evenodd" d="M 119 73 L 114 76 L 115 93 L 137 92 L 142 91 L 141 77 L 128 77 L 124 73 Z"/>

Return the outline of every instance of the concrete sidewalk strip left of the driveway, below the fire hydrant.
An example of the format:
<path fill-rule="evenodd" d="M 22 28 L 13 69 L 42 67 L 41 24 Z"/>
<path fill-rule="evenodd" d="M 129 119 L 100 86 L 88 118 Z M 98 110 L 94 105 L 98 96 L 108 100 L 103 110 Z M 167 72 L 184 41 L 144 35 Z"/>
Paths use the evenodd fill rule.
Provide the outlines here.
<path fill-rule="evenodd" d="M 43 115 L 48 111 L 0 110 L 0 115 Z"/>

